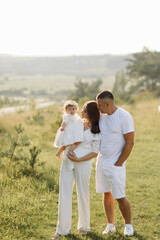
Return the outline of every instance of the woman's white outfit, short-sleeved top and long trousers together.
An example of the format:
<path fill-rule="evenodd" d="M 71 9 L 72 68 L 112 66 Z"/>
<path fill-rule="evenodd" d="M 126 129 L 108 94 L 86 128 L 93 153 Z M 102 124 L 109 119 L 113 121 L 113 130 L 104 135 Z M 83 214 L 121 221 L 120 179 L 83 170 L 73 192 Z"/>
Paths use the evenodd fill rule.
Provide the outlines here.
<path fill-rule="evenodd" d="M 78 158 L 91 152 L 98 153 L 100 145 L 100 134 L 93 134 L 88 129 L 84 131 L 84 142 L 75 149 Z M 68 151 L 67 147 L 65 152 Z M 78 229 L 90 230 L 90 200 L 89 200 L 89 180 L 92 169 L 92 160 L 83 162 L 72 162 L 73 169 L 68 167 L 71 160 L 63 161 L 60 172 L 60 190 L 58 205 L 57 232 L 67 235 L 71 230 L 72 219 L 72 191 L 74 180 L 76 181 L 78 195 Z"/>

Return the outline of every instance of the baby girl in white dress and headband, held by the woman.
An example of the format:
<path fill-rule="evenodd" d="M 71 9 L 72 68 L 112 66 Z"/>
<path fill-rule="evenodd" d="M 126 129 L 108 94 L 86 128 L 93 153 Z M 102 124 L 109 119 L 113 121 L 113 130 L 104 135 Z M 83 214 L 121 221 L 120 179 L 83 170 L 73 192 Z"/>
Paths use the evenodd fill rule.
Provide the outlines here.
<path fill-rule="evenodd" d="M 80 142 L 84 141 L 84 125 L 77 114 L 78 104 L 68 100 L 64 103 L 63 110 L 63 122 L 57 131 L 54 142 L 55 147 L 60 147 L 56 153 L 59 158 L 67 146 L 69 146 L 69 152 L 73 152 Z M 63 156 L 63 160 L 66 159 L 68 159 L 67 156 Z"/>

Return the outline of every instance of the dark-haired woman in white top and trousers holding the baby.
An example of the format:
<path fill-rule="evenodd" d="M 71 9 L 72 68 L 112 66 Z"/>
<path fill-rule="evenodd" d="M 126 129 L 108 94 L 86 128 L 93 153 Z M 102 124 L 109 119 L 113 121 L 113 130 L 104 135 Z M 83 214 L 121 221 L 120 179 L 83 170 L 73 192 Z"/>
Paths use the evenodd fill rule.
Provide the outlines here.
<path fill-rule="evenodd" d="M 71 169 L 68 161 L 63 161 L 60 171 L 60 189 L 58 206 L 58 223 L 53 239 L 59 239 L 62 235 L 71 232 L 72 218 L 72 191 L 74 180 L 78 196 L 78 232 L 86 234 L 90 231 L 90 201 L 89 201 L 89 180 L 92 170 L 92 160 L 99 152 L 100 112 L 95 101 L 87 102 L 82 111 L 84 119 L 84 142 L 80 143 L 73 152 L 68 152 L 66 147 L 64 154 L 73 161 Z"/>

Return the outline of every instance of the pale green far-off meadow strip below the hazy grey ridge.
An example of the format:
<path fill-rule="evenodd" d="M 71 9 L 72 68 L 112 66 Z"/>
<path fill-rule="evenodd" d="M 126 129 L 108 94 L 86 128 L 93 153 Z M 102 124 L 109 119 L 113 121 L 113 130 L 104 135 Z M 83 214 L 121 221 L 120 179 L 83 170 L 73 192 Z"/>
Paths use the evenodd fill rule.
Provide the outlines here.
<path fill-rule="evenodd" d="M 105 70 L 104 70 L 105 72 Z M 107 70 L 106 70 L 107 73 Z M 98 77 L 82 77 L 87 82 L 96 80 Z M 17 76 L 11 75 L 5 84 L 2 84 L 3 77 L 0 77 L 1 91 L 11 89 L 26 88 L 30 91 L 46 90 L 51 92 L 62 91 L 64 89 L 74 90 L 74 83 L 77 81 L 76 75 L 29 75 Z M 114 74 L 108 73 L 102 78 L 102 88 L 112 88 L 114 83 Z"/>

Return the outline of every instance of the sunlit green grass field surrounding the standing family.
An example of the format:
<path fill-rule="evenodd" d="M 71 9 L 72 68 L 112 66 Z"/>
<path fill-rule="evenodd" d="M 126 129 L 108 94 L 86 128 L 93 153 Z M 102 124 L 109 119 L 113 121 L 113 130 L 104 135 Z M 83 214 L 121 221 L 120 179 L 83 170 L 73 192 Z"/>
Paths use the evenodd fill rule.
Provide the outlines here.
<path fill-rule="evenodd" d="M 133 237 L 124 237 L 124 223 L 115 203 L 115 225 L 117 232 L 104 236 L 106 219 L 102 206 L 102 195 L 95 191 L 95 163 L 90 181 L 91 229 L 86 236 L 77 233 L 76 188 L 73 193 L 72 234 L 62 239 L 105 240 L 105 239 L 160 239 L 160 113 L 159 99 L 141 101 L 135 105 L 123 105 L 135 121 L 135 145 L 127 160 L 126 196 L 130 200 Z M 58 177 L 61 161 L 55 157 L 53 148 L 57 129 L 57 106 L 41 111 L 44 123 L 27 124 L 36 114 L 19 113 L 0 118 L 0 143 L 2 148 L 9 144 L 6 132 L 13 132 L 13 126 L 22 123 L 34 145 L 41 148 L 40 161 L 46 164 L 36 167 L 36 174 L 26 176 L 18 168 L 2 158 L 0 161 L 0 239 L 40 240 L 51 239 L 56 230 L 58 212 Z M 26 150 L 27 151 L 27 150 Z"/>

